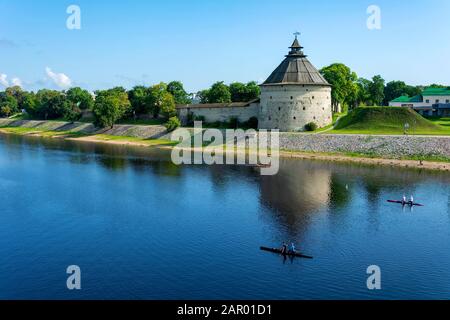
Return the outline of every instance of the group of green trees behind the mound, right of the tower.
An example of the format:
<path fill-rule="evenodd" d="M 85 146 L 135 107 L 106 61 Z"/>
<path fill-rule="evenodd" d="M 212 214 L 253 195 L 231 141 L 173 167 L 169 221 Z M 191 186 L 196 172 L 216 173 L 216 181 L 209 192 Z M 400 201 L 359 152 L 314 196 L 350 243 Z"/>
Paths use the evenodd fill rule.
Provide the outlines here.
<path fill-rule="evenodd" d="M 413 97 L 422 93 L 426 86 L 412 86 L 403 81 L 386 81 L 376 75 L 372 79 L 359 78 L 348 66 L 334 63 L 320 70 L 333 86 L 331 92 L 333 112 L 339 106 L 348 110 L 358 106 L 387 106 L 389 102 L 403 95 Z M 428 87 L 445 87 L 432 84 Z"/>

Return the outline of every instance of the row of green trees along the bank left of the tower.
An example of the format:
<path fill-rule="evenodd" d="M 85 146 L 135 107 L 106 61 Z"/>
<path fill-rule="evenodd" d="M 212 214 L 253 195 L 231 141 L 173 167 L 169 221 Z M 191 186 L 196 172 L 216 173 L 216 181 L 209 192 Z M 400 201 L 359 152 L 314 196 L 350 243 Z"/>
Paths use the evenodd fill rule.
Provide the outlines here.
<path fill-rule="evenodd" d="M 256 82 L 217 82 L 197 94 L 201 103 L 246 102 L 259 97 Z M 192 103 L 179 81 L 159 83 L 150 87 L 135 86 L 131 90 L 115 87 L 90 93 L 79 87 L 67 91 L 41 89 L 28 92 L 15 86 L 0 92 L 0 117 L 26 111 L 32 119 L 78 121 L 87 111 L 92 112 L 99 127 L 112 127 L 118 121 L 136 120 L 142 116 L 166 121 L 170 128 L 179 126 L 176 105 Z"/>

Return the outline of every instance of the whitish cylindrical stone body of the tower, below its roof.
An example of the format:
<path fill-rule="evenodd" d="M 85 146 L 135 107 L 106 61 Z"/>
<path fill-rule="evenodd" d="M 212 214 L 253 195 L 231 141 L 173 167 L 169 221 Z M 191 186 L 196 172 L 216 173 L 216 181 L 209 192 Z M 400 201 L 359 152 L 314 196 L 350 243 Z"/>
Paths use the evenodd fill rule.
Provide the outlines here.
<path fill-rule="evenodd" d="M 304 131 L 314 122 L 325 127 L 333 122 L 331 87 L 276 85 L 261 87 L 260 129 Z"/>

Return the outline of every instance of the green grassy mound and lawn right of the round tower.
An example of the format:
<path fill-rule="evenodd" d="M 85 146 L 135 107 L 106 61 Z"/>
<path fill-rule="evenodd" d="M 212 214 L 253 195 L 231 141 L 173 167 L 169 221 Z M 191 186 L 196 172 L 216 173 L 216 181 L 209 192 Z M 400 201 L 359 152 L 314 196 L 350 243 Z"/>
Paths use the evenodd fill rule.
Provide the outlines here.
<path fill-rule="evenodd" d="M 408 108 L 395 107 L 357 108 L 328 133 L 403 135 L 406 123 L 410 135 L 450 135 L 449 118 L 429 120 Z"/>

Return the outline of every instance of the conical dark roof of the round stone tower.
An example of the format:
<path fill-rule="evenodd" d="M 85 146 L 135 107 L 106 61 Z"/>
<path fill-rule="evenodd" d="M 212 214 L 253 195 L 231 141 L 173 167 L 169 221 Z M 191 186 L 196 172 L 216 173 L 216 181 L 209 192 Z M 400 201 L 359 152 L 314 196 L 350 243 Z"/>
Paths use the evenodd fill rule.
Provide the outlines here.
<path fill-rule="evenodd" d="M 289 48 L 291 51 L 286 56 L 286 59 L 275 69 L 263 85 L 330 85 L 311 62 L 309 62 L 307 56 L 303 54 L 303 47 L 298 42 L 297 37 L 295 37 L 294 43 Z"/>

